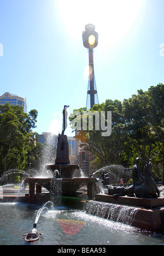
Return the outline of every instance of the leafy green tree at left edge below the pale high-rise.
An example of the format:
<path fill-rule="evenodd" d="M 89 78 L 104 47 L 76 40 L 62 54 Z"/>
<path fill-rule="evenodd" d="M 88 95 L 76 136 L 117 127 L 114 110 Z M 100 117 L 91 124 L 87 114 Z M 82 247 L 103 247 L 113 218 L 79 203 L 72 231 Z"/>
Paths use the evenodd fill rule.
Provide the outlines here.
<path fill-rule="evenodd" d="M 34 147 L 35 134 L 28 133 L 34 127 L 37 110 L 29 115 L 19 106 L 0 106 L 0 171 L 10 168 L 23 169 L 27 150 Z M 34 118 L 33 118 L 34 117 Z"/>

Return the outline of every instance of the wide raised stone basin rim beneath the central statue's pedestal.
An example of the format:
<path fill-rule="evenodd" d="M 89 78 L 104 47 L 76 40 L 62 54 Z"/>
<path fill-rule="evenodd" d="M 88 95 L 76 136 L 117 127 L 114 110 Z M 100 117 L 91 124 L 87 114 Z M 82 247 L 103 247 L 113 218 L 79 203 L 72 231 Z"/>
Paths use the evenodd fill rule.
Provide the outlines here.
<path fill-rule="evenodd" d="M 60 179 L 55 178 L 26 178 L 26 181 L 29 184 L 38 184 L 46 189 L 48 189 L 51 193 L 53 192 L 53 184 Z M 62 178 L 62 195 L 70 195 L 74 194 L 79 188 L 83 187 L 83 185 L 93 185 L 96 183 L 96 178 Z"/>

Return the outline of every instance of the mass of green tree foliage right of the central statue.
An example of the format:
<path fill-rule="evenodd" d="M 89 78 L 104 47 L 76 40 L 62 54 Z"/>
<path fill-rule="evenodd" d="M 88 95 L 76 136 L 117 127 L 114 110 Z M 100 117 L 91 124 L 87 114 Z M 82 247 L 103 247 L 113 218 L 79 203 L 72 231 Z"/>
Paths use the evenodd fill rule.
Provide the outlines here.
<path fill-rule="evenodd" d="M 112 112 L 112 132 L 110 136 L 103 137 L 101 129 L 96 129 L 93 120 L 93 130 L 81 129 L 76 138 L 81 141 L 81 147 L 97 156 L 98 167 L 109 164 L 132 166 L 134 159 L 140 156 L 147 160 L 153 158 L 156 176 L 164 174 L 164 85 L 151 86 L 148 91 L 138 90 L 136 95 L 125 99 L 106 100 L 105 103 L 96 104 L 90 112 Z M 77 109 L 81 113 L 78 117 L 83 119 L 85 108 Z M 78 118 L 71 115 L 71 123 Z M 89 120 L 89 119 L 88 119 Z M 87 122 L 88 122 L 87 120 Z M 96 119 L 95 119 L 96 120 Z M 95 121 L 96 122 L 96 121 Z M 100 120 L 101 122 L 101 120 Z M 95 125 L 95 126 L 94 126 Z M 164 178 L 164 175 L 163 175 Z"/>

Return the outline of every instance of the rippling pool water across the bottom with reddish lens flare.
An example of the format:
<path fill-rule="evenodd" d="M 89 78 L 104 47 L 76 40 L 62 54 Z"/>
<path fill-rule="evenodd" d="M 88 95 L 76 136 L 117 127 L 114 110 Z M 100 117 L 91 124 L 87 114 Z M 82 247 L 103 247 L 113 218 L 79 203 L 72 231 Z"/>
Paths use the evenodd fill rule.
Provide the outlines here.
<path fill-rule="evenodd" d="M 43 211 L 37 229 L 44 236 L 29 244 L 22 235 L 32 229 L 39 209 L 28 203 L 0 203 L 0 245 L 164 245 L 163 233 L 143 231 L 70 206 Z"/>

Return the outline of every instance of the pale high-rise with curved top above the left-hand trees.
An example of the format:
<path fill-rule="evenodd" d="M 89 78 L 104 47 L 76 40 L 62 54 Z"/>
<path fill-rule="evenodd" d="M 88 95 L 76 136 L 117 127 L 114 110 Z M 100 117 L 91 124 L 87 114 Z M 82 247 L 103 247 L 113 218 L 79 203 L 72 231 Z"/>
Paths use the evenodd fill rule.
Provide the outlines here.
<path fill-rule="evenodd" d="M 26 97 L 20 97 L 15 94 L 10 94 L 9 92 L 5 92 L 2 96 L 0 96 L 0 104 L 5 105 L 5 103 L 9 103 L 9 105 L 20 106 L 24 108 L 24 112 L 27 113 L 27 101 Z"/>

